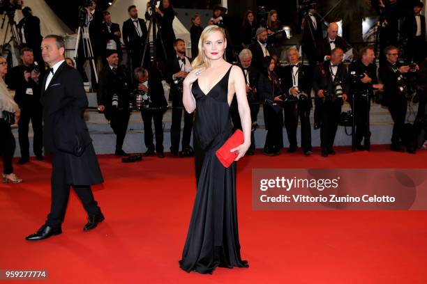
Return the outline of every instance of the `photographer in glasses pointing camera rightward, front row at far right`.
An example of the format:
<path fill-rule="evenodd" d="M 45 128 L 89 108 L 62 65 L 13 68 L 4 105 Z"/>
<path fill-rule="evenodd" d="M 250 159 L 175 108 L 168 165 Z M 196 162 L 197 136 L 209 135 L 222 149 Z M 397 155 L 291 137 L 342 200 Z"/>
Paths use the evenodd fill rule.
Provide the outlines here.
<path fill-rule="evenodd" d="M 384 100 L 389 107 L 393 119 L 393 134 L 391 136 L 391 150 L 404 152 L 402 145 L 407 144 L 407 152 L 415 153 L 415 149 L 409 145 L 405 137 L 405 118 L 407 110 L 407 81 L 405 79 L 410 71 L 410 65 L 398 63 L 399 49 L 389 46 L 384 49 L 387 61 L 380 66 L 378 74 L 384 84 Z M 417 69 L 418 66 L 412 66 Z"/>

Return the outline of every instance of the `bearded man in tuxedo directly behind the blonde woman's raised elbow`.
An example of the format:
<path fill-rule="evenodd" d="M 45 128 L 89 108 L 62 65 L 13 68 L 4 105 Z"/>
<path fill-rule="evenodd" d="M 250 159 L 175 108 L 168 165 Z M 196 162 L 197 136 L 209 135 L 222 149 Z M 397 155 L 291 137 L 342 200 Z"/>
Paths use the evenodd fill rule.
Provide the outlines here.
<path fill-rule="evenodd" d="M 172 125 L 170 127 L 170 154 L 172 156 L 188 157 L 193 155 L 190 146 L 191 129 L 193 129 L 194 113 L 184 111 L 184 127 L 182 133 L 181 147 L 179 152 L 179 140 L 181 139 L 182 104 L 182 82 L 191 71 L 190 59 L 185 56 L 186 42 L 178 38 L 174 41 L 176 56 L 167 58 L 165 80 L 170 84 L 169 100 L 172 101 Z"/>

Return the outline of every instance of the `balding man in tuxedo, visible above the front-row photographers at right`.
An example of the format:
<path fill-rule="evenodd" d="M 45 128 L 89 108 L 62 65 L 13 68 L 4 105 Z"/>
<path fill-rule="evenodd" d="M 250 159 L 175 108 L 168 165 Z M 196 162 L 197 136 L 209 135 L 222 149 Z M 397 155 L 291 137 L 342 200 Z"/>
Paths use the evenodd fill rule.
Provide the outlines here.
<path fill-rule="evenodd" d="M 345 40 L 338 36 L 338 24 L 331 23 L 328 26 L 327 36 L 317 42 L 317 61 L 323 62 L 331 59 L 331 51 L 334 48 L 347 51 Z"/>

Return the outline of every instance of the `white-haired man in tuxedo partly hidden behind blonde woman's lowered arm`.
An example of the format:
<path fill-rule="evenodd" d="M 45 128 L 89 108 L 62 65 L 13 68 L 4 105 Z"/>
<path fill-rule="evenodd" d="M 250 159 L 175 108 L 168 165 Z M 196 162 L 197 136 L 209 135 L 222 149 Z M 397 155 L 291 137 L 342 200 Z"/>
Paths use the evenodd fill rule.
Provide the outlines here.
<path fill-rule="evenodd" d="M 252 65 L 252 52 L 250 49 L 242 49 L 239 53 L 239 67 L 244 72 L 246 83 L 246 95 L 250 107 L 250 120 L 252 120 L 252 131 L 250 133 L 250 147 L 247 155 L 255 155 L 255 129 L 257 125 L 257 116 L 260 111 L 260 104 L 251 104 L 260 102 L 260 97 L 257 94 L 258 79 L 260 79 L 260 72 Z M 239 115 L 239 108 L 237 106 L 237 98 L 234 96 L 231 104 L 231 116 L 234 129 L 241 129 L 241 121 Z"/>

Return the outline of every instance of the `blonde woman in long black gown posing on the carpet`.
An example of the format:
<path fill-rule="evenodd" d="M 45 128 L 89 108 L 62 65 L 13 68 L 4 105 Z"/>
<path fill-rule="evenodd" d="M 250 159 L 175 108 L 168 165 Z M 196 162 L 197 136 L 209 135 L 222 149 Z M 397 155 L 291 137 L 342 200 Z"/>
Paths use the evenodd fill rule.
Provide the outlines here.
<path fill-rule="evenodd" d="M 237 97 L 244 143 L 231 150 L 235 161 L 250 146 L 250 110 L 243 72 L 223 59 L 223 29 L 207 26 L 193 71 L 183 82 L 183 105 L 192 113 L 197 194 L 180 267 L 211 274 L 216 267 L 248 267 L 241 260 L 237 226 L 236 163 L 225 168 L 215 155 L 232 135 L 230 104 Z"/>

